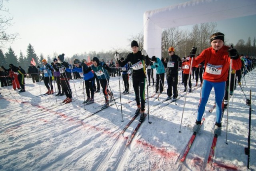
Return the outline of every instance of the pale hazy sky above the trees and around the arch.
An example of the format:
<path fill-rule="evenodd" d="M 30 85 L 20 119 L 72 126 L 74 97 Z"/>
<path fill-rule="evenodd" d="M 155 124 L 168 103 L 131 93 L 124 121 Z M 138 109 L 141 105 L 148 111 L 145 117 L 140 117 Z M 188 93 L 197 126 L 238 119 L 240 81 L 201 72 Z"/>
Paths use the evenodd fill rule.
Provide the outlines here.
<path fill-rule="evenodd" d="M 19 57 L 28 44 L 46 58 L 64 53 L 67 57 L 90 51 L 129 49 L 132 36 L 143 31 L 143 14 L 189 0 L 9 0 L 4 6 L 13 16 L 8 33 L 19 34 L 11 47 Z M 236 44 L 256 36 L 256 15 L 218 21 L 217 30 Z M 183 26 L 181 29 L 191 29 Z"/>

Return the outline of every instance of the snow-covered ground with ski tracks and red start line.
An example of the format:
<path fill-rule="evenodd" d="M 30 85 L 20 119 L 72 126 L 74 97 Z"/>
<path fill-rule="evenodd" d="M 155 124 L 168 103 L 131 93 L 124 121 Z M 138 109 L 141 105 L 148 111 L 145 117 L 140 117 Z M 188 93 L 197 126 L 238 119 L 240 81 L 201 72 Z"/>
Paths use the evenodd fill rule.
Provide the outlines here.
<path fill-rule="evenodd" d="M 250 168 L 256 169 L 256 71 L 245 76 L 243 90 L 249 98 L 252 90 L 252 128 Z M 181 81 L 180 81 L 181 82 Z M 122 78 L 120 87 L 123 91 Z M 11 86 L 0 89 L 0 170 L 204 170 L 210 153 L 212 129 L 215 123 L 215 111 L 208 109 L 214 104 L 214 90 L 210 95 L 205 122 L 182 163 L 178 156 L 184 150 L 192 135 L 196 121 L 200 88 L 186 97 L 184 116 L 181 123 L 185 97 L 176 103 L 166 101 L 163 93 L 159 100 L 149 98 L 149 119 L 142 123 L 132 143 L 126 142 L 138 124 L 138 118 L 124 134 L 120 131 L 130 121 L 136 110 L 134 91 L 122 95 L 122 115 L 119 96 L 118 77 L 110 78 L 110 86 L 116 98 L 116 105 L 84 119 L 97 111 L 104 103 L 102 92 L 96 93 L 95 103 L 84 105 L 80 80 L 70 80 L 74 97 L 72 103 L 61 103 L 65 96 L 34 97 L 46 92 L 43 82 L 32 83 L 26 79 L 26 92 L 16 93 Z M 76 93 L 74 85 L 76 87 Z M 195 80 L 192 80 L 195 85 Z M 179 85 L 181 92 L 184 85 Z M 149 95 L 153 87 L 148 88 Z M 165 80 L 166 91 L 166 80 Z M 10 93 L 11 92 L 11 93 Z M 76 96 L 77 95 L 77 96 Z M 147 94 L 146 94 L 147 97 Z M 249 107 L 240 87 L 230 99 L 228 113 L 228 134 L 226 144 L 225 111 L 222 120 L 222 135 L 218 137 L 212 170 L 246 170 Z M 127 103 L 131 101 L 130 103 Z M 126 103 L 126 104 L 124 104 Z M 166 105 L 166 103 L 170 103 Z M 158 104 L 158 105 L 156 105 Z M 164 106 L 165 105 L 165 106 Z M 146 109 L 148 108 L 146 103 Z M 123 122 L 122 122 L 123 116 Z M 81 119 L 84 119 L 83 121 Z M 179 133 L 179 130 L 181 132 Z"/>

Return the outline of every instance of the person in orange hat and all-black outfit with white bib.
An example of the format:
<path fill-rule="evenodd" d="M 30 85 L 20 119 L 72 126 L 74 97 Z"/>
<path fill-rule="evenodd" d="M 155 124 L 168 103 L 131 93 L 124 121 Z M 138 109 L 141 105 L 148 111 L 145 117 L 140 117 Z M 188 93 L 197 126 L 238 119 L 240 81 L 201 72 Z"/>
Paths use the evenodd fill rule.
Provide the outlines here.
<path fill-rule="evenodd" d="M 178 67 L 180 57 L 175 55 L 174 48 L 170 47 L 168 49 L 169 56 L 163 62 L 166 68 L 166 80 L 167 80 L 167 95 L 168 99 L 172 97 L 172 101 L 175 101 L 178 97 Z M 163 61 L 163 59 L 162 59 Z M 173 96 L 172 96 L 173 95 Z"/>

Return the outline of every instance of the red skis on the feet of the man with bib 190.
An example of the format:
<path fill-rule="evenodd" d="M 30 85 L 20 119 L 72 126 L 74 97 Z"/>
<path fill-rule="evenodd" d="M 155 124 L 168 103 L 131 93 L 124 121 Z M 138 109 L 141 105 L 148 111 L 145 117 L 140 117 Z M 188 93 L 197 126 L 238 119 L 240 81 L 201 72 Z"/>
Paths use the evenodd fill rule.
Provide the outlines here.
<path fill-rule="evenodd" d="M 205 120 L 205 118 L 202 119 L 201 126 L 204 123 L 204 120 Z M 201 126 L 200 126 L 200 128 L 201 128 Z M 190 140 L 188 141 L 188 144 L 186 145 L 184 151 L 180 154 L 179 160 L 181 162 L 185 161 L 186 156 L 188 155 L 188 152 L 189 152 L 195 138 L 196 138 L 196 132 L 194 132 L 193 135 L 190 137 Z M 209 154 L 208 160 L 207 160 L 208 165 L 212 165 L 212 161 L 213 161 L 213 157 L 214 157 L 214 153 L 215 153 L 215 147 L 216 147 L 216 143 L 217 143 L 217 138 L 218 138 L 218 135 L 215 134 L 214 138 L 212 140 L 210 154 Z"/>

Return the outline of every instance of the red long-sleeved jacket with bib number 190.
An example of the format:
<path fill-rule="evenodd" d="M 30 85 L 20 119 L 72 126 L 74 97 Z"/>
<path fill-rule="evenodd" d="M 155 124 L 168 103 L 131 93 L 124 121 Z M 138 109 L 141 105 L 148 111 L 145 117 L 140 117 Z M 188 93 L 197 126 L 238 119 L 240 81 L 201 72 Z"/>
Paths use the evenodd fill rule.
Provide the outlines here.
<path fill-rule="evenodd" d="M 224 82 L 228 80 L 228 70 L 230 67 L 230 58 L 227 50 L 230 47 L 223 46 L 217 52 L 212 48 L 207 48 L 193 59 L 193 67 L 204 61 L 204 80 L 209 82 Z M 191 59 L 190 59 L 191 60 Z M 242 66 L 240 58 L 232 60 L 232 69 L 239 70 Z"/>

